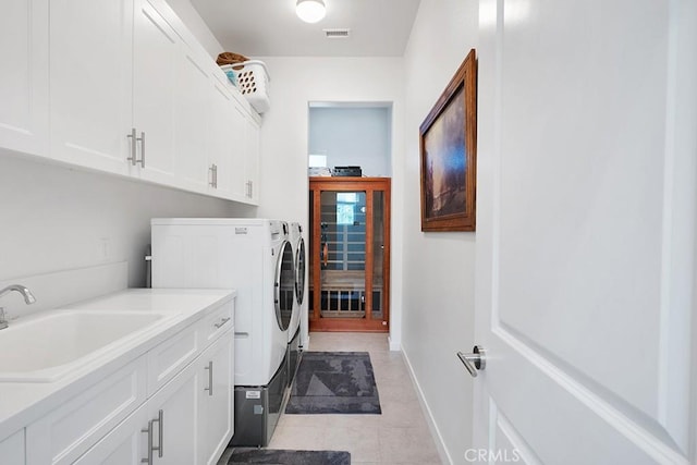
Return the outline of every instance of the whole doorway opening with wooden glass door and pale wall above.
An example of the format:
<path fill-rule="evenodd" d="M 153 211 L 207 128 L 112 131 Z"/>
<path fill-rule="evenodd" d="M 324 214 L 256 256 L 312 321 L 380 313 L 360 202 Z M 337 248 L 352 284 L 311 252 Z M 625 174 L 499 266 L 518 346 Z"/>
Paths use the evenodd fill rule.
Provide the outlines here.
<path fill-rule="evenodd" d="M 388 332 L 392 106 L 310 103 L 308 126 L 309 328 Z"/>

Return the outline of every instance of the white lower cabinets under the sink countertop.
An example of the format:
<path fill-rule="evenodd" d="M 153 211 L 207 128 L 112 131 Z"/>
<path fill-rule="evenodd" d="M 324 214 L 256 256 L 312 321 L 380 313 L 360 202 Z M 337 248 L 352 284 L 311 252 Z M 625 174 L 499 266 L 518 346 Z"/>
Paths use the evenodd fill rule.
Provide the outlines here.
<path fill-rule="evenodd" d="M 208 313 L 0 442 L 0 463 L 216 464 L 233 435 L 232 321 L 233 302 Z"/>

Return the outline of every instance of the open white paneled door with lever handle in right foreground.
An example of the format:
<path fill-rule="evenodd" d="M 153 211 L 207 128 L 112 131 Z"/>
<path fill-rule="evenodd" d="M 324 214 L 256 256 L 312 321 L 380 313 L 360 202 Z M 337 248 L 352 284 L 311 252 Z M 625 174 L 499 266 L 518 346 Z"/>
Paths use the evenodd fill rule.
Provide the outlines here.
<path fill-rule="evenodd" d="M 453 460 L 696 463 L 697 2 L 479 5 L 487 366 Z"/>

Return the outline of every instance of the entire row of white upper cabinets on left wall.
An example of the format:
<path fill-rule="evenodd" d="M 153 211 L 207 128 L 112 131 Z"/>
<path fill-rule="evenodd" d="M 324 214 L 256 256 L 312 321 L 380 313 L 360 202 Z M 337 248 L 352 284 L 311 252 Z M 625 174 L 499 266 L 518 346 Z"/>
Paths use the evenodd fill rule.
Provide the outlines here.
<path fill-rule="evenodd" d="M 258 200 L 258 117 L 164 1 L 2 2 L 0 58 L 0 147 Z"/>

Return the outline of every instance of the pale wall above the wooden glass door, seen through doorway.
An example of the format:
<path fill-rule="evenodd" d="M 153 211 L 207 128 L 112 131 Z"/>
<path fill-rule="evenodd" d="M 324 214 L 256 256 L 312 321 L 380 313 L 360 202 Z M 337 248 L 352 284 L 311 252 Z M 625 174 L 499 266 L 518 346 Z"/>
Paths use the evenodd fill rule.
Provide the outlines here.
<path fill-rule="evenodd" d="M 363 175 L 390 176 L 392 111 L 386 107 L 309 109 L 309 154 L 327 156 L 327 167 L 360 167 Z"/>

